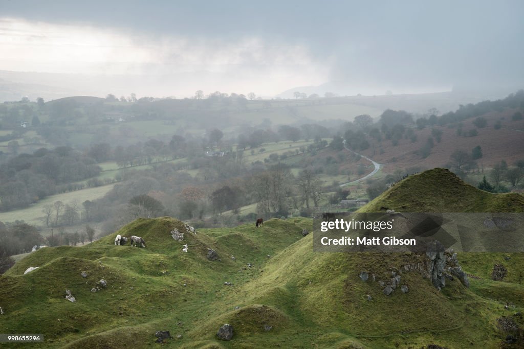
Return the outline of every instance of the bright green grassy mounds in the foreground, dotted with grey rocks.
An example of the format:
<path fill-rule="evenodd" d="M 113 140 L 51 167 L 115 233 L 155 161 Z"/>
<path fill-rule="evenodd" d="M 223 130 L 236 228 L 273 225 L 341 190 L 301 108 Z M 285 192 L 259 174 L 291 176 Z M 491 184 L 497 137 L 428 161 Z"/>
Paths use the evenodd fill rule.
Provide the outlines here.
<path fill-rule="evenodd" d="M 406 178 L 361 210 L 401 202 L 411 205 L 403 211 L 524 208 L 521 197 L 481 192 L 437 168 Z M 500 319 L 522 327 L 514 316 L 524 307 L 522 254 L 459 254 L 470 287 L 455 278 L 439 291 L 403 269 L 424 263 L 423 255 L 313 253 L 312 234 L 301 234 L 311 227 L 311 219 L 272 219 L 261 228 L 192 234 L 162 217 L 138 219 L 83 247 L 46 247 L 0 277 L 0 333 L 42 333 L 47 347 L 71 348 L 155 347 L 159 330 L 170 331 L 165 347 L 173 348 L 498 348 L 506 336 Z M 174 228 L 184 232 L 187 253 L 172 239 Z M 143 237 L 147 248 L 115 246 L 118 233 Z M 221 260 L 209 261 L 208 248 Z M 495 263 L 507 269 L 501 282 L 490 280 Z M 29 266 L 39 268 L 23 275 Z M 361 271 L 377 281 L 363 282 Z M 383 294 L 378 281 L 392 271 L 409 292 Z M 91 292 L 102 278 L 107 287 Z M 76 302 L 64 299 L 65 289 Z M 230 342 L 215 336 L 224 323 L 234 327 Z"/>

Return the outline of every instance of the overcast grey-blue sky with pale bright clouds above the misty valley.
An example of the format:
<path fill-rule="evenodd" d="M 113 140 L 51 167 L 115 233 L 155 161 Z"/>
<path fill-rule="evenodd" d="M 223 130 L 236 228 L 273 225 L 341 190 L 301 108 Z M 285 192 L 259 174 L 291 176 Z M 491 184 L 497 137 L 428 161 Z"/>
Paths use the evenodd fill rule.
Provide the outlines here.
<path fill-rule="evenodd" d="M 333 81 L 367 95 L 514 87 L 523 10 L 519 0 L 3 0 L 0 70 L 176 97 Z"/>

